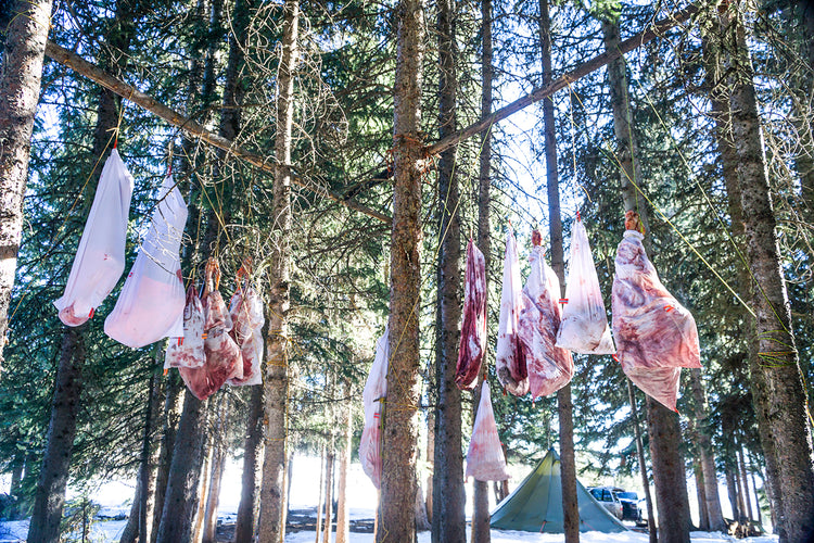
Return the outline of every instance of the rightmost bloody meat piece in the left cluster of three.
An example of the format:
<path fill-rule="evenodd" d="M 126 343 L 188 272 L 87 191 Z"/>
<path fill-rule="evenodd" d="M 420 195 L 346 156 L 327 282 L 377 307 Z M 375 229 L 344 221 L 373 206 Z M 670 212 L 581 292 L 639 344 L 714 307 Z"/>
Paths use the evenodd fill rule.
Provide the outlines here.
<path fill-rule="evenodd" d="M 239 274 L 240 275 L 240 274 Z M 263 301 L 246 279 L 238 288 L 229 304 L 232 329 L 229 332 L 240 348 L 243 359 L 243 377 L 231 378 L 232 387 L 262 384 L 260 362 L 263 361 Z"/>

